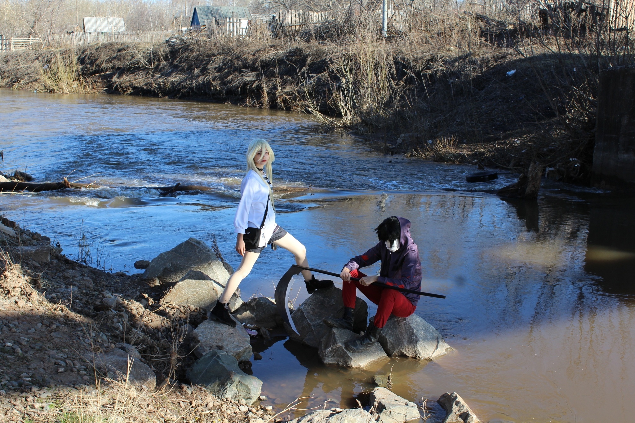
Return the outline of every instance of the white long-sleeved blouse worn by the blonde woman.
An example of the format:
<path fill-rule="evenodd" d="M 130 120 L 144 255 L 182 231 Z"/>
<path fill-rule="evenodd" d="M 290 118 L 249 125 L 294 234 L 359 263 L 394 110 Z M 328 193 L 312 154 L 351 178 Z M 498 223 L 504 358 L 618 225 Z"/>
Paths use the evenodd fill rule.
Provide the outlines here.
<path fill-rule="evenodd" d="M 265 205 L 269 197 L 269 186 L 256 171 L 251 169 L 243 178 L 240 185 L 240 202 L 234 218 L 234 232 L 244 233 L 247 228 L 260 228 L 262 216 L 265 214 Z M 265 219 L 265 226 L 260 232 L 260 242 L 258 247 L 267 245 L 276 228 L 276 212 L 271 201 L 269 201 L 269 211 Z"/>

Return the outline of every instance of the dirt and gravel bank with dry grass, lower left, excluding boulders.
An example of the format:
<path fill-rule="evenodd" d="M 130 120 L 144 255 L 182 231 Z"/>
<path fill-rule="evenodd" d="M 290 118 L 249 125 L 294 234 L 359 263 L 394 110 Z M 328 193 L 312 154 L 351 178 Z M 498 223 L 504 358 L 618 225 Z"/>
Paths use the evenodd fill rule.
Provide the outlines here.
<path fill-rule="evenodd" d="M 201 322 L 203 310 L 159 307 L 156 290 L 135 275 L 70 261 L 48 237 L 0 221 L 0 422 L 264 423 L 274 417 L 266 400 L 246 407 L 180 382 L 194 361 L 182 346 L 186 325 Z M 50 263 L 24 258 L 24 247 L 51 248 Z M 156 375 L 156 391 L 95 370 L 91 356 L 120 342 L 137 348 Z"/>

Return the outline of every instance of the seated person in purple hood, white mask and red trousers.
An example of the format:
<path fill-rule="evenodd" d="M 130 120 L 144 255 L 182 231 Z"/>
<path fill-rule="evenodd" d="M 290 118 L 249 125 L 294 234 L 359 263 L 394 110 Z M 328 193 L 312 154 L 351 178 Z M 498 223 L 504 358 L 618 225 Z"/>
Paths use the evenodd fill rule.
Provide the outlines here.
<path fill-rule="evenodd" d="M 421 261 L 417 244 L 410 235 L 408 219 L 391 216 L 375 229 L 379 242 L 361 256 L 353 257 L 342 269 L 344 281 L 342 299 L 344 316 L 340 319 L 326 318 L 324 323 L 330 327 L 352 330 L 355 309 L 356 290 L 359 289 L 370 301 L 377 304 L 377 314 L 366 333 L 359 339 L 347 344 L 349 351 L 361 351 L 369 348 L 379 338 L 386 321 L 391 315 L 408 317 L 415 312 L 419 296 L 403 294 L 398 290 L 371 285 L 373 282 L 385 283 L 410 290 L 420 290 Z M 360 268 L 382 261 L 379 276 L 366 276 Z M 352 278 L 360 278 L 352 281 Z"/>

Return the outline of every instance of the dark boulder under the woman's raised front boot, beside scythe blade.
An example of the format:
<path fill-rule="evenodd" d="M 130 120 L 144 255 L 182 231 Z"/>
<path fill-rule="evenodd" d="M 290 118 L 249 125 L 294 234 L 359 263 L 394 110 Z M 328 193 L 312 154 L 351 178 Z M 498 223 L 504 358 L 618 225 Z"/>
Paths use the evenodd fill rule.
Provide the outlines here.
<path fill-rule="evenodd" d="M 342 290 L 336 287 L 318 289 L 315 294 L 305 299 L 304 303 L 293 311 L 291 318 L 295 323 L 298 334 L 287 327 L 291 339 L 302 342 L 313 348 L 319 348 L 322 339 L 330 332 L 322 320 L 326 317 L 340 318 L 344 313 Z M 361 298 L 355 301 L 355 322 L 353 331 L 356 333 L 366 330 L 368 318 L 368 304 Z"/>

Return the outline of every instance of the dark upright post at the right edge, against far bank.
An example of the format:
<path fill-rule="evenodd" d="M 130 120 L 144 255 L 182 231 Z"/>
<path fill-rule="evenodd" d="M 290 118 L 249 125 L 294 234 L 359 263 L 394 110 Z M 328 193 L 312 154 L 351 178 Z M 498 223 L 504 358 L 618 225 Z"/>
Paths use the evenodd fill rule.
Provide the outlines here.
<path fill-rule="evenodd" d="M 595 183 L 635 183 L 635 67 L 600 72 Z"/>

